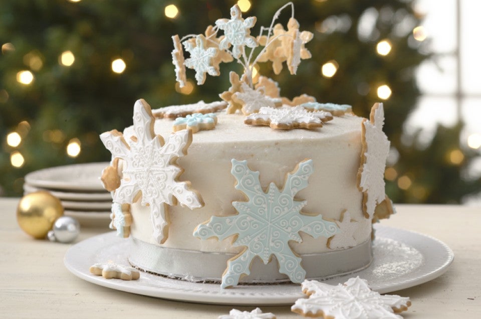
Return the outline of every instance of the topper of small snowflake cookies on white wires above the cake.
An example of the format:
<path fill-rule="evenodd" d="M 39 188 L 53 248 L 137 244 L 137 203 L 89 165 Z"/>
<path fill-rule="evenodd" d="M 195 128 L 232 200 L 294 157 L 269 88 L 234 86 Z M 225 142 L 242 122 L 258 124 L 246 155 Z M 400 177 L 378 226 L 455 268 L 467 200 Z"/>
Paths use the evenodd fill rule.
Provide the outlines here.
<path fill-rule="evenodd" d="M 287 24 L 287 30 L 282 24 L 274 25 L 281 12 L 291 8 L 291 18 Z M 206 74 L 211 76 L 220 75 L 220 63 L 232 62 L 234 59 L 243 67 L 243 75 L 230 72 L 231 87 L 219 94 L 228 103 L 226 112 L 235 113 L 242 111 L 245 115 L 258 113 L 261 107 L 277 108 L 285 105 L 297 106 L 304 102 L 315 102 L 315 98 L 301 95 L 290 101 L 281 98 L 277 83 L 269 78 L 260 77 L 258 85 L 254 84 L 254 73 L 260 62 L 272 62 L 275 74 L 279 74 L 286 62 L 289 72 L 296 74 L 297 68 L 303 59 L 311 58 L 311 53 L 305 48 L 305 44 L 312 40 L 313 34 L 299 30 L 299 22 L 294 18 L 294 4 L 287 3 L 281 7 L 272 19 L 271 25 L 261 26 L 257 38 L 251 35 L 251 29 L 256 24 L 256 17 L 242 18 L 237 5 L 230 9 L 230 19 L 218 19 L 215 26 L 208 26 L 205 35 L 187 35 L 179 38 L 172 37 L 174 50 L 172 51 L 172 63 L 175 66 L 176 80 L 180 87 L 187 81 L 186 68 L 195 71 L 195 79 L 198 85 L 205 82 Z M 218 33 L 223 31 L 223 35 Z M 190 54 L 184 58 L 184 51 Z M 259 51 L 258 48 L 262 49 Z M 257 52 L 257 55 L 256 55 Z M 297 103 L 295 101 L 302 101 Z M 308 110 L 310 111 L 310 109 Z M 318 121 L 320 122 L 320 121 Z M 246 123 L 254 124 L 256 123 Z M 273 128 L 294 127 L 319 127 L 320 125 L 271 125 Z"/>

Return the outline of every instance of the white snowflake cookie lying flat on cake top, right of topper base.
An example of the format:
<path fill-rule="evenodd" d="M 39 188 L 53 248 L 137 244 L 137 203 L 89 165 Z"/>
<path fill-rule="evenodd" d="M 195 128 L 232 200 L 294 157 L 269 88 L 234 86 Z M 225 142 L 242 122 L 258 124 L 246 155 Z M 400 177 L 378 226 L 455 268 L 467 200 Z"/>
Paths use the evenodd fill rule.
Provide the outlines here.
<path fill-rule="evenodd" d="M 329 112 L 309 112 L 302 106 L 289 106 L 280 108 L 261 107 L 259 113 L 248 115 L 246 119 L 269 120 L 271 124 L 317 123 L 322 126 L 322 120 L 328 117 L 331 117 Z"/>

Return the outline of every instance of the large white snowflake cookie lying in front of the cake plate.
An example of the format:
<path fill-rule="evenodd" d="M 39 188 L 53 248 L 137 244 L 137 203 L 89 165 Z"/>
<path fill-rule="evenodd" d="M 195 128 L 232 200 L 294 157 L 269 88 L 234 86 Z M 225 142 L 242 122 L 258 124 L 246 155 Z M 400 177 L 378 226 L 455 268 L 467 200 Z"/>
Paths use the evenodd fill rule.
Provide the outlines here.
<path fill-rule="evenodd" d="M 372 291 L 359 276 L 337 286 L 305 280 L 302 291 L 309 298 L 298 299 L 291 310 L 325 319 L 402 319 L 396 313 L 411 305 L 409 298 Z"/>

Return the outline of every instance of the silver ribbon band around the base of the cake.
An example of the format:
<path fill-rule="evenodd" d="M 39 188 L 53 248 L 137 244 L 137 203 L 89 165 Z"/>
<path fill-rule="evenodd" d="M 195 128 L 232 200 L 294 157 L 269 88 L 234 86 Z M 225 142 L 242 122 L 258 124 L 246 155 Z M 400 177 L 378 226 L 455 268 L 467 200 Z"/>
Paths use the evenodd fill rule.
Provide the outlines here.
<path fill-rule="evenodd" d="M 131 237 L 129 262 L 141 270 L 189 281 L 220 282 L 233 253 L 200 252 L 194 250 L 156 246 Z M 302 266 L 306 279 L 327 279 L 349 274 L 368 267 L 372 261 L 371 240 L 337 251 L 318 254 L 302 254 Z M 275 256 L 265 265 L 261 258 L 254 258 L 251 274 L 243 277 L 245 283 L 278 283 L 289 281 L 279 272 Z"/>

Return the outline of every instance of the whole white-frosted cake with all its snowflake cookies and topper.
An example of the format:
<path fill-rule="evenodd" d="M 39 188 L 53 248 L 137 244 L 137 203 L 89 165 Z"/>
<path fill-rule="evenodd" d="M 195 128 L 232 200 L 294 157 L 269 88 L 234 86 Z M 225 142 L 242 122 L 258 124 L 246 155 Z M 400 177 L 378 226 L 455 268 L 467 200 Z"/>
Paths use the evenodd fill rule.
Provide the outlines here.
<path fill-rule="evenodd" d="M 287 27 L 274 25 L 286 8 Z M 111 227 L 128 238 L 140 270 L 227 288 L 302 283 L 372 261 L 372 222 L 393 213 L 382 104 L 365 119 L 349 105 L 282 97 L 254 68 L 272 62 L 279 74 L 286 63 L 296 74 L 313 34 L 299 30 L 292 3 L 257 37 L 255 24 L 235 5 L 204 35 L 172 37 L 180 86 L 186 68 L 200 85 L 220 63 L 243 67 L 230 73 L 222 101 L 152 110 L 140 99 L 132 126 L 101 134 L 112 153 L 102 174 Z"/>

